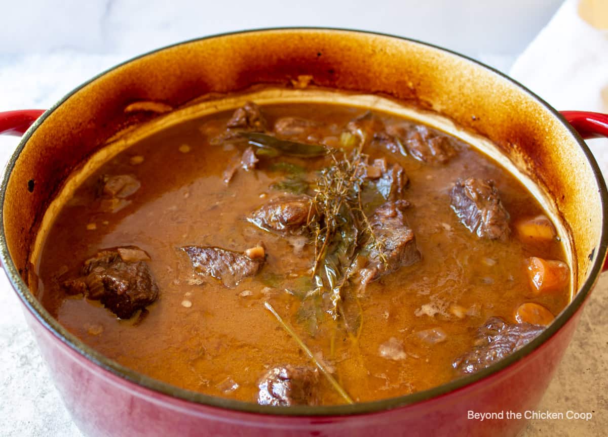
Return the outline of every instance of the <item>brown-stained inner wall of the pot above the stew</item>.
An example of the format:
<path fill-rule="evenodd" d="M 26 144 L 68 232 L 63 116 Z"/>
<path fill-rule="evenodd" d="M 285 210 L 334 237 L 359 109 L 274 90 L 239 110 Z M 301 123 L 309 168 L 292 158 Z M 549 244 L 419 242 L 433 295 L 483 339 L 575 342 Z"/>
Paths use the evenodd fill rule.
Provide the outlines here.
<path fill-rule="evenodd" d="M 98 76 L 47 113 L 24 137 L 6 186 L 4 229 L 18 273 L 27 280 L 41 217 L 67 175 L 116 132 L 154 117 L 125 111 L 129 104 L 179 107 L 255 84 L 297 87 L 302 75 L 316 86 L 407 101 L 494 141 L 554 200 L 570 232 L 576 289 L 595 257 L 603 256 L 597 247 L 601 176 L 541 101 L 444 50 L 391 36 L 304 29 L 236 33 L 159 50 Z"/>

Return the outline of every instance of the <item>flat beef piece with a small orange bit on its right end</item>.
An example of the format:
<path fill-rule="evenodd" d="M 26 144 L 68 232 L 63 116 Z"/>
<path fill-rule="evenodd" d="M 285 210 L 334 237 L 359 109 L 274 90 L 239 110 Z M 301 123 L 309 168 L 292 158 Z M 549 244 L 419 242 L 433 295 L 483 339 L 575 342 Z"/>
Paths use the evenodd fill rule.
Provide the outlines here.
<path fill-rule="evenodd" d="M 263 258 L 251 259 L 239 252 L 216 247 L 185 246 L 182 250 L 190 257 L 196 273 L 213 276 L 229 288 L 254 276 L 264 265 Z"/>

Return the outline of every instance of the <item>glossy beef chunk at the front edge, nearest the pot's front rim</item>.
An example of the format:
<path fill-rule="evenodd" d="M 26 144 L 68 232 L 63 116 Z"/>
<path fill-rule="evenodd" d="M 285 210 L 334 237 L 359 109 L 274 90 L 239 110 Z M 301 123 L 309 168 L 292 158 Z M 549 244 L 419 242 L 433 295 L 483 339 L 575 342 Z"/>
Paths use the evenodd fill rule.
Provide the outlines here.
<path fill-rule="evenodd" d="M 288 407 L 319 403 L 319 372 L 316 368 L 286 365 L 274 367 L 258 383 L 258 404 Z"/>

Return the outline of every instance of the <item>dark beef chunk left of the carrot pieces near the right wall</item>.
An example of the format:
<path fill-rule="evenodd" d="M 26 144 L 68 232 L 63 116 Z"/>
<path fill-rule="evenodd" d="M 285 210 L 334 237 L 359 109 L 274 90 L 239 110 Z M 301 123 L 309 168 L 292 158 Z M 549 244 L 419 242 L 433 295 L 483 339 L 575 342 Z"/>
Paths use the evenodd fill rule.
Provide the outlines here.
<path fill-rule="evenodd" d="M 505 240 L 509 236 L 509 213 L 500 201 L 494 181 L 459 179 L 450 197 L 460 222 L 478 237 Z"/>

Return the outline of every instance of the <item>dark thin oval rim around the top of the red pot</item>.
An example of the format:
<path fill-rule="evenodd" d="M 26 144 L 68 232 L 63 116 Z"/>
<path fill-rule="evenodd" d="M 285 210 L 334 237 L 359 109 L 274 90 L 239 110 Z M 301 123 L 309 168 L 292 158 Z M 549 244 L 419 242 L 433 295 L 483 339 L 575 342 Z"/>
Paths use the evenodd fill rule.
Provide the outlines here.
<path fill-rule="evenodd" d="M 602 211 L 603 211 L 603 223 L 606 223 L 606 217 L 608 216 L 608 191 L 606 188 L 606 183 L 604 182 L 603 175 L 601 170 L 599 169 L 598 164 L 595 161 L 589 147 L 582 140 L 578 132 L 568 124 L 564 117 L 553 107 L 551 107 L 547 102 L 542 100 L 536 94 L 528 90 L 522 84 L 510 78 L 510 76 L 505 75 L 505 73 L 500 72 L 499 70 L 494 69 L 493 67 L 489 67 L 486 64 L 480 63 L 479 61 L 470 58 L 469 56 L 461 55 L 460 53 L 454 52 L 453 50 L 444 49 L 440 46 L 435 46 L 434 44 L 429 44 L 427 42 L 418 41 L 412 38 L 404 38 L 402 36 L 390 35 L 387 33 L 381 32 L 371 32 L 367 30 L 353 30 L 353 29 L 341 29 L 341 28 L 331 28 L 331 27 L 272 27 L 272 28 L 263 28 L 263 29 L 247 29 L 240 30 L 236 32 L 226 32 L 226 33 L 218 33 L 215 35 L 204 36 L 202 38 L 193 38 L 188 39 L 187 41 L 178 42 L 176 44 L 170 44 L 169 46 L 161 47 L 159 49 L 151 50 L 150 52 L 143 53 L 142 55 L 135 56 L 134 58 L 128 59 L 123 63 L 117 64 L 102 73 L 94 76 L 90 80 L 81 84 L 80 86 L 73 89 L 71 92 L 67 93 L 61 100 L 54 104 L 54 106 L 50 107 L 50 109 L 46 110 L 46 112 L 41 115 L 35 123 L 30 126 L 27 132 L 22 136 L 21 141 L 19 141 L 19 145 L 16 148 L 15 152 L 11 155 L 7 165 L 2 174 L 2 180 L 0 181 L 0 203 L 2 207 L 0 208 L 0 261 L 4 266 L 5 272 L 7 273 L 7 277 L 13 289 L 21 299 L 22 303 L 26 306 L 27 310 L 32 313 L 35 319 L 43 325 L 50 333 L 57 337 L 60 342 L 64 343 L 67 347 L 69 347 L 76 354 L 79 354 L 81 357 L 84 357 L 86 360 L 92 362 L 103 370 L 108 371 L 113 376 L 117 378 L 126 380 L 133 384 L 138 385 L 139 387 L 151 390 L 156 392 L 157 394 L 166 395 L 170 398 L 181 399 L 182 401 L 192 402 L 193 404 L 199 404 L 205 407 L 219 407 L 224 408 L 226 410 L 231 410 L 235 413 L 257 413 L 261 415 L 269 415 L 269 416 L 348 416 L 348 415 L 362 415 L 366 413 L 375 413 L 382 412 L 385 410 L 391 410 L 393 408 L 404 407 L 406 405 L 416 404 L 418 402 L 428 401 L 433 398 L 438 398 L 442 395 L 447 395 L 447 393 L 451 393 L 452 391 L 456 391 L 462 388 L 465 388 L 469 385 L 474 384 L 475 382 L 482 381 L 482 379 L 488 378 L 491 375 L 498 374 L 500 371 L 505 370 L 510 367 L 512 364 L 520 361 L 524 357 L 531 354 L 537 348 L 541 347 L 541 345 L 545 344 L 545 342 L 550 339 L 554 334 L 556 334 L 565 324 L 570 320 L 573 314 L 579 310 L 582 306 L 582 303 L 586 300 L 587 296 L 592 290 L 593 285 L 595 284 L 596 279 L 601 273 L 601 268 L 604 262 L 604 256 L 606 254 L 606 250 L 608 248 L 608 226 L 603 226 L 601 231 L 601 237 L 599 239 L 599 244 L 596 246 L 596 250 L 598 251 L 595 261 L 593 261 L 592 268 L 590 269 L 589 276 L 582 284 L 581 288 L 575 294 L 572 301 L 567 305 L 564 310 L 554 319 L 553 323 L 546 328 L 542 333 L 534 338 L 531 342 L 524 345 L 522 348 L 517 350 L 516 352 L 510 354 L 506 358 L 490 365 L 489 367 L 478 371 L 477 373 L 470 374 L 468 376 L 463 376 L 462 378 L 455 379 L 453 381 L 449 381 L 445 384 L 438 385 L 437 387 L 430 388 L 424 391 L 418 391 L 416 393 L 412 393 L 410 395 L 398 396 L 395 398 L 387 398 L 381 399 L 379 401 L 373 402 L 361 402 L 356 404 L 345 404 L 345 405 L 319 405 L 319 406 L 304 406 L 304 405 L 294 405 L 292 407 L 272 407 L 269 405 L 258 405 L 253 402 L 244 402 L 244 401 L 236 401 L 233 399 L 219 398 L 216 396 L 205 395 L 203 393 L 199 393 L 192 390 L 187 390 L 185 388 L 179 388 L 174 385 L 168 384 L 167 382 L 162 382 L 157 379 L 150 378 L 149 376 L 145 376 L 142 373 L 131 370 L 116 361 L 113 361 L 103 354 L 95 351 L 93 348 L 84 344 L 80 339 L 78 339 L 74 334 L 69 333 L 64 327 L 62 327 L 59 322 L 50 315 L 50 313 L 41 305 L 40 302 L 30 293 L 29 288 L 27 287 L 24 280 L 18 273 L 18 269 L 13 263 L 10 254 L 9 248 L 6 242 L 5 229 L 4 229 L 4 200 L 5 200 L 5 192 L 7 190 L 8 182 L 10 175 L 12 174 L 13 168 L 15 167 L 16 161 L 21 154 L 21 151 L 24 149 L 27 141 L 32 136 L 33 132 L 40 126 L 40 124 L 44 123 L 49 115 L 54 112 L 61 104 L 64 103 L 68 98 L 77 93 L 80 89 L 87 86 L 88 84 L 97 80 L 101 76 L 106 73 L 111 72 L 114 69 L 117 69 L 120 66 L 131 63 L 137 59 L 143 58 L 145 56 L 151 55 L 153 53 L 161 52 L 165 49 L 170 49 L 171 47 L 181 46 L 183 44 L 190 44 L 196 41 L 204 41 L 206 39 L 211 38 L 219 38 L 223 36 L 229 35 L 237 35 L 244 33 L 260 33 L 260 32 L 282 32 L 282 31 L 326 31 L 332 33 L 363 33 L 368 35 L 379 35 L 386 36 L 389 38 L 395 38 L 402 41 L 413 42 L 415 44 L 419 44 L 421 46 L 430 47 L 431 49 L 441 50 L 443 52 L 449 53 L 451 55 L 458 56 L 460 58 L 465 59 L 477 67 L 489 70 L 489 72 L 494 75 L 500 76 L 503 80 L 510 81 L 515 84 L 520 92 L 526 93 L 528 97 L 533 98 L 537 102 L 541 103 L 545 108 L 547 108 L 554 117 L 558 118 L 562 124 L 567 127 L 573 137 L 576 138 L 579 147 L 581 147 L 582 152 L 585 154 L 587 158 L 587 163 L 592 168 L 593 175 L 595 176 L 595 180 L 599 186 L 599 197 L 601 200 Z"/>

